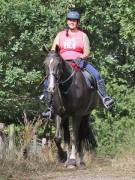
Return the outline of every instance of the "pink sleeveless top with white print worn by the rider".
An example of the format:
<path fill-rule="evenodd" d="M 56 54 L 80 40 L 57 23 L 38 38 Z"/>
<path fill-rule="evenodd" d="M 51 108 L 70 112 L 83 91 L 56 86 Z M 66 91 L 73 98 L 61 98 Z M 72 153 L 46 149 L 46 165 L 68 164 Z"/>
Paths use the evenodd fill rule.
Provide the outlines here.
<path fill-rule="evenodd" d="M 76 59 L 83 54 L 83 32 L 77 31 L 74 35 L 66 36 L 66 30 L 59 35 L 60 55 L 63 59 Z"/>

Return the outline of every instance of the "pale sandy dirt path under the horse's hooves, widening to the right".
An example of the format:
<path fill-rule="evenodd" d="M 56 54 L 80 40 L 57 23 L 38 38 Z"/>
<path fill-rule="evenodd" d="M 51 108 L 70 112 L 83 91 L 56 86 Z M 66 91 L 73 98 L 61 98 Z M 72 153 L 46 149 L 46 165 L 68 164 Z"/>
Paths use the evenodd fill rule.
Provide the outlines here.
<path fill-rule="evenodd" d="M 33 180 L 135 180 L 135 163 L 96 159 L 87 167 L 67 169 L 59 166 L 52 172 L 33 177 Z"/>

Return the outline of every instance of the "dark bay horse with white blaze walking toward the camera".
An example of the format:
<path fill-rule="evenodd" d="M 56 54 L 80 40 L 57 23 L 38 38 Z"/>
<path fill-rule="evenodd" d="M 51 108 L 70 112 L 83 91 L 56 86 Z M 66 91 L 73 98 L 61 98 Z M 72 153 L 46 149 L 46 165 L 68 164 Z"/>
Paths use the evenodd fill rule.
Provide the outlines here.
<path fill-rule="evenodd" d="M 97 92 L 88 87 L 81 70 L 72 68 L 57 52 L 50 51 L 44 65 L 48 76 L 48 92 L 53 97 L 56 114 L 56 144 L 59 154 L 63 152 L 59 139 L 64 136 L 67 166 L 76 166 L 76 152 L 79 153 L 80 164 L 84 164 L 84 144 L 96 147 L 89 115 L 99 103 Z"/>

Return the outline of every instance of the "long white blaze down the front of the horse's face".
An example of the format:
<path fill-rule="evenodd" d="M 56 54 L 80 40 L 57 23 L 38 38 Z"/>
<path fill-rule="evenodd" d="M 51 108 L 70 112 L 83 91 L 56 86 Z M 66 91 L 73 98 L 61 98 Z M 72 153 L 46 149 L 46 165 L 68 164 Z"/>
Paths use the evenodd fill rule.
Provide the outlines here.
<path fill-rule="evenodd" d="M 48 81 L 48 92 L 54 92 L 54 88 L 55 88 L 55 76 L 54 76 L 53 69 L 51 67 L 51 64 L 53 63 L 53 61 L 54 59 L 52 58 L 49 63 L 50 74 L 49 74 L 49 81 Z"/>

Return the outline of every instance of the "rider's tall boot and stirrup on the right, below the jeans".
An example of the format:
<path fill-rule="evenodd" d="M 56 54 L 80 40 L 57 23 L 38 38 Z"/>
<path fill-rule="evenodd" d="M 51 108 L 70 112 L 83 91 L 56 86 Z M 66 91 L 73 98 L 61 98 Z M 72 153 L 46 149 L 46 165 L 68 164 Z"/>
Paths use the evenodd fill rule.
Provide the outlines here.
<path fill-rule="evenodd" d="M 105 108 L 110 109 L 114 104 L 114 100 L 111 97 L 107 96 L 103 79 L 97 81 L 97 91 Z"/>

